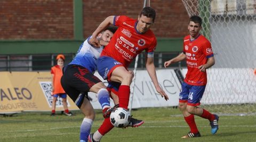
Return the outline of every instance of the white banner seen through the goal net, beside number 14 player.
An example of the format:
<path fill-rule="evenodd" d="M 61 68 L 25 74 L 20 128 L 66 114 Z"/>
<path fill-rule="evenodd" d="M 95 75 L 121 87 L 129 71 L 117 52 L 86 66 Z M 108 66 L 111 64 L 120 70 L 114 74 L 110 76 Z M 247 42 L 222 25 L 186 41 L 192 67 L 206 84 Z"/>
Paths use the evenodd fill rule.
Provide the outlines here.
<path fill-rule="evenodd" d="M 187 69 L 181 70 L 185 77 Z M 202 104 L 237 104 L 256 102 L 256 75 L 252 68 L 207 69 L 207 85 Z"/>

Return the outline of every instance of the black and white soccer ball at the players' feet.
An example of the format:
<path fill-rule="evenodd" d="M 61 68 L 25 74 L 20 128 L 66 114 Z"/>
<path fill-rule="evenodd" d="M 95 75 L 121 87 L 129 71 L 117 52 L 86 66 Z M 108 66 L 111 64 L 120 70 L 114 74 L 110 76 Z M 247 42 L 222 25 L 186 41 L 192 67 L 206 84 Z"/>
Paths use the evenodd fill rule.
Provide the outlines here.
<path fill-rule="evenodd" d="M 126 127 L 130 123 L 130 113 L 124 108 L 116 108 L 110 114 L 110 122 L 118 128 Z"/>

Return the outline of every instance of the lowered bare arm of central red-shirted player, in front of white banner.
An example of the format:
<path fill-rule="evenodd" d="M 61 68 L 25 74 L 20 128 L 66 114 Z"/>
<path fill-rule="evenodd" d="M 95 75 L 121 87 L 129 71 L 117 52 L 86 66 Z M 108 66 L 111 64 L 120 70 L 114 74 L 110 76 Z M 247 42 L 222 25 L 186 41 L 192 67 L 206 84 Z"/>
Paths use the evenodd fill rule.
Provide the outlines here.
<path fill-rule="evenodd" d="M 169 97 L 167 96 L 167 94 L 164 92 L 164 90 L 161 88 L 161 86 L 159 85 L 159 83 L 157 81 L 156 68 L 154 65 L 154 58 L 148 58 L 147 54 L 146 54 L 146 68 L 147 68 L 148 74 L 156 88 L 156 91 L 159 94 L 161 94 L 161 96 L 164 97 L 164 99 L 166 101 L 169 100 Z"/>

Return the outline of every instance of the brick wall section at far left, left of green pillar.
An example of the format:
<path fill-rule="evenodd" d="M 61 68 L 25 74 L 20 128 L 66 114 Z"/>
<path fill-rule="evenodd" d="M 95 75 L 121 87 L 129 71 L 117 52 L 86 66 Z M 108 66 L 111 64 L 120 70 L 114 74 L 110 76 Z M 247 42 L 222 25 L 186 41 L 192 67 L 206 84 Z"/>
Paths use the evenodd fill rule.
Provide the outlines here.
<path fill-rule="evenodd" d="M 0 39 L 70 39 L 73 0 L 1 0 Z"/>

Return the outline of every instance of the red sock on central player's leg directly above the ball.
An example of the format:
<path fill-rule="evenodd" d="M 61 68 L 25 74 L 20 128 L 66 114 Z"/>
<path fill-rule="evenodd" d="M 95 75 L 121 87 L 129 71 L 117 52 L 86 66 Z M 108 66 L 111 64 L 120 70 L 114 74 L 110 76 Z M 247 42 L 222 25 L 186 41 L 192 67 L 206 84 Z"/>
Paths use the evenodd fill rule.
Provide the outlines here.
<path fill-rule="evenodd" d="M 128 109 L 130 99 L 130 86 L 121 85 L 118 90 L 119 94 L 119 107 Z"/>

